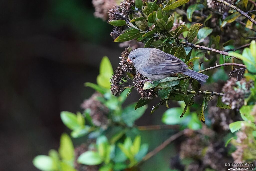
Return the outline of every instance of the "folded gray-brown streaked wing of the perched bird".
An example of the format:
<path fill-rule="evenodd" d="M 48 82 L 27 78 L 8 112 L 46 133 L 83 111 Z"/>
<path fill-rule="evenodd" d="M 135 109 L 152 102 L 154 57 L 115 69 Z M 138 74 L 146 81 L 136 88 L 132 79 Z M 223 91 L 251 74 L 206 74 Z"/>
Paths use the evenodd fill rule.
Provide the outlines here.
<path fill-rule="evenodd" d="M 157 51 L 152 52 L 151 56 L 143 67 L 143 71 L 148 74 L 166 75 L 188 70 L 188 66 L 174 55 Z"/>

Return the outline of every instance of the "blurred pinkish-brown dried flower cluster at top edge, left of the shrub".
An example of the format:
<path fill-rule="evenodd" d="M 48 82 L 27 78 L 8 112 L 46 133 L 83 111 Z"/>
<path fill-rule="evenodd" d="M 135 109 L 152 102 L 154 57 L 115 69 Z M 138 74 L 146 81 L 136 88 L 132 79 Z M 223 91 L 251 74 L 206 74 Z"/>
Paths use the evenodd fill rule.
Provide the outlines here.
<path fill-rule="evenodd" d="M 95 8 L 94 16 L 103 20 L 108 19 L 108 10 L 116 5 L 115 0 L 92 0 Z"/>

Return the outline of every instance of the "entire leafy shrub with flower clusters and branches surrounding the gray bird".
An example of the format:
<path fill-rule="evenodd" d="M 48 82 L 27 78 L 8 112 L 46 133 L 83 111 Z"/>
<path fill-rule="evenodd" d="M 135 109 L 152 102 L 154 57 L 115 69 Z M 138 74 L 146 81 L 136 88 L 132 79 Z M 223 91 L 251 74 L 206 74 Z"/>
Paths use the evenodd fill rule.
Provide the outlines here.
<path fill-rule="evenodd" d="M 158 48 L 180 58 L 189 69 L 207 72 L 209 79 L 205 84 L 178 73 L 143 83 L 145 77 L 126 62 L 130 47 L 121 54 L 121 66 L 115 72 L 105 56 L 97 84 L 85 83 L 96 93 L 84 101 L 84 111 L 60 114 L 72 138 L 84 138 L 84 144 L 74 149 L 69 136 L 63 134 L 59 152 L 36 156 L 33 164 L 43 171 L 140 170 L 141 163 L 181 135 L 184 137 L 172 147 L 178 163 L 172 163 L 177 158 L 171 159 L 172 166 L 180 167 L 173 169 L 223 170 L 220 163 L 226 159 L 227 163 L 255 161 L 256 43 L 249 38 L 255 35 L 254 4 L 236 1 L 234 9 L 225 3 L 125 0 L 110 9 L 108 23 L 114 26 L 114 42 L 142 42 L 144 47 Z M 224 66 L 231 66 L 230 76 L 236 78 L 227 81 Z M 125 100 L 134 89 L 142 97 L 127 105 Z M 162 115 L 163 126 L 178 132 L 147 153 L 151 142 L 142 143 L 143 134 L 135 121 L 153 98 L 159 103 L 151 114 L 161 105 L 170 107 Z"/>

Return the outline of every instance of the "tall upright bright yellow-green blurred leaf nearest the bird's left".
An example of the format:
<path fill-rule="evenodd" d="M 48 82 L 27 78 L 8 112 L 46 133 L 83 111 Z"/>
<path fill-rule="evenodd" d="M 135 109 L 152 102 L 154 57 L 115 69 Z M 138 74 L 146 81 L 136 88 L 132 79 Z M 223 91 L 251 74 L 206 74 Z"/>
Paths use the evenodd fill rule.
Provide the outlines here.
<path fill-rule="evenodd" d="M 110 78 L 114 74 L 112 65 L 107 56 L 104 56 L 100 63 L 100 74 L 97 77 L 97 83 L 101 87 L 110 88 Z"/>

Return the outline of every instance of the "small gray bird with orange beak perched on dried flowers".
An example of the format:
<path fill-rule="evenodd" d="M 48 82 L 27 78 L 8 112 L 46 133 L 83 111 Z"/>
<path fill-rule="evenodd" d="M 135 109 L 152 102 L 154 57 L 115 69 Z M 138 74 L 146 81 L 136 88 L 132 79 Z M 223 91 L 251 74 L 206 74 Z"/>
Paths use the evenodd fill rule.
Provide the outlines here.
<path fill-rule="evenodd" d="M 154 48 L 133 50 L 127 62 L 133 63 L 140 74 L 153 80 L 161 80 L 175 73 L 182 73 L 203 82 L 208 78 L 205 74 L 188 69 L 188 66 L 174 55 Z"/>

